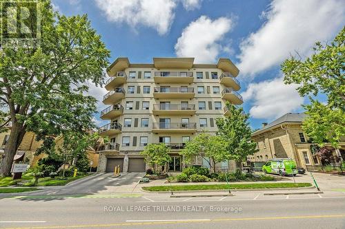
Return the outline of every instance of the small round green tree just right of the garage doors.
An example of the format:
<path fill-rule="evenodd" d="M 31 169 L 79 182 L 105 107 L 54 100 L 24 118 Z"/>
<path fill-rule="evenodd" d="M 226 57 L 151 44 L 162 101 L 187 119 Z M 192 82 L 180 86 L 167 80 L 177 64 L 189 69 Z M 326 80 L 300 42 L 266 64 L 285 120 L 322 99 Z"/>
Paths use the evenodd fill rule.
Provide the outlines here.
<path fill-rule="evenodd" d="M 145 146 L 144 151 L 140 152 L 144 156 L 145 162 L 157 172 L 157 166 L 166 166 L 171 161 L 169 148 L 164 143 L 150 143 Z"/>

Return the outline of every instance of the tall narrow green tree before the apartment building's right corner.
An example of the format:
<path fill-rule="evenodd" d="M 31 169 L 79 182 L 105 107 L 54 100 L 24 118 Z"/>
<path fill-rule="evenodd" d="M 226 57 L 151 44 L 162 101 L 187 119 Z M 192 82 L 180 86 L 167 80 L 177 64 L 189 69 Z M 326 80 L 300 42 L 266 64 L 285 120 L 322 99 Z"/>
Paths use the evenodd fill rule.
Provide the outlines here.
<path fill-rule="evenodd" d="M 230 158 L 239 164 L 239 170 L 242 171 L 242 162 L 248 155 L 257 152 L 257 144 L 251 140 L 249 116 L 244 113 L 242 107 L 237 108 L 229 103 L 226 106 L 228 106 L 230 115 L 217 119 L 217 135 L 226 140 L 226 150 L 230 154 Z"/>

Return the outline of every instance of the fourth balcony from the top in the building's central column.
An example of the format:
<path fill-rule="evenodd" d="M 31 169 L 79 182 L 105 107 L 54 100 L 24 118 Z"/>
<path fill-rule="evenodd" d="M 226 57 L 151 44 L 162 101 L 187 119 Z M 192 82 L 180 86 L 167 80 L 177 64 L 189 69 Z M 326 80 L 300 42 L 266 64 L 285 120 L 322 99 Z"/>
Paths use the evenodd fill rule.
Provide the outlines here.
<path fill-rule="evenodd" d="M 152 124 L 153 133 L 195 133 L 197 124 L 195 122 L 154 122 Z"/>

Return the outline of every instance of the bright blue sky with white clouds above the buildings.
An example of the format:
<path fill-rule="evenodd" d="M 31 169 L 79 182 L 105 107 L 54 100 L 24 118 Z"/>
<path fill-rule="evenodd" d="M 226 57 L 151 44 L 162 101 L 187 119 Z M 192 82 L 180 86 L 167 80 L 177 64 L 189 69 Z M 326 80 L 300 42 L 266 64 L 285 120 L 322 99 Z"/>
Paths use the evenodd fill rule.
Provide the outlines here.
<path fill-rule="evenodd" d="M 230 58 L 239 68 L 239 91 L 250 127 L 288 112 L 303 112 L 298 85 L 284 85 L 280 65 L 297 53 L 313 54 L 316 41 L 329 42 L 345 25 L 343 0 L 52 0 L 67 16 L 88 14 L 111 52 L 131 63 L 152 57 L 195 57 L 195 63 Z M 106 89 L 90 83 L 98 110 Z M 326 100 L 325 96 L 318 96 Z M 107 121 L 95 114 L 97 125 Z"/>

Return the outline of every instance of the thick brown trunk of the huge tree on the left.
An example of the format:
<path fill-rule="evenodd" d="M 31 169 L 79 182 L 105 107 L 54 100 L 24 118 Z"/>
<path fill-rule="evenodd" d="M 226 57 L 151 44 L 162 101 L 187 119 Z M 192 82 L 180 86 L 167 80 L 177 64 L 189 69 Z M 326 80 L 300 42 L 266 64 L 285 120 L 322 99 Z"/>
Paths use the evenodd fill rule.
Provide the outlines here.
<path fill-rule="evenodd" d="M 0 174 L 2 176 L 10 176 L 11 175 L 11 168 L 14 159 L 14 155 L 17 153 L 17 149 L 23 140 L 26 131 L 22 124 L 13 123 L 10 133 L 10 138 L 8 138 L 8 142 L 6 143 L 5 150 L 4 150 L 4 157 L 0 164 Z"/>

